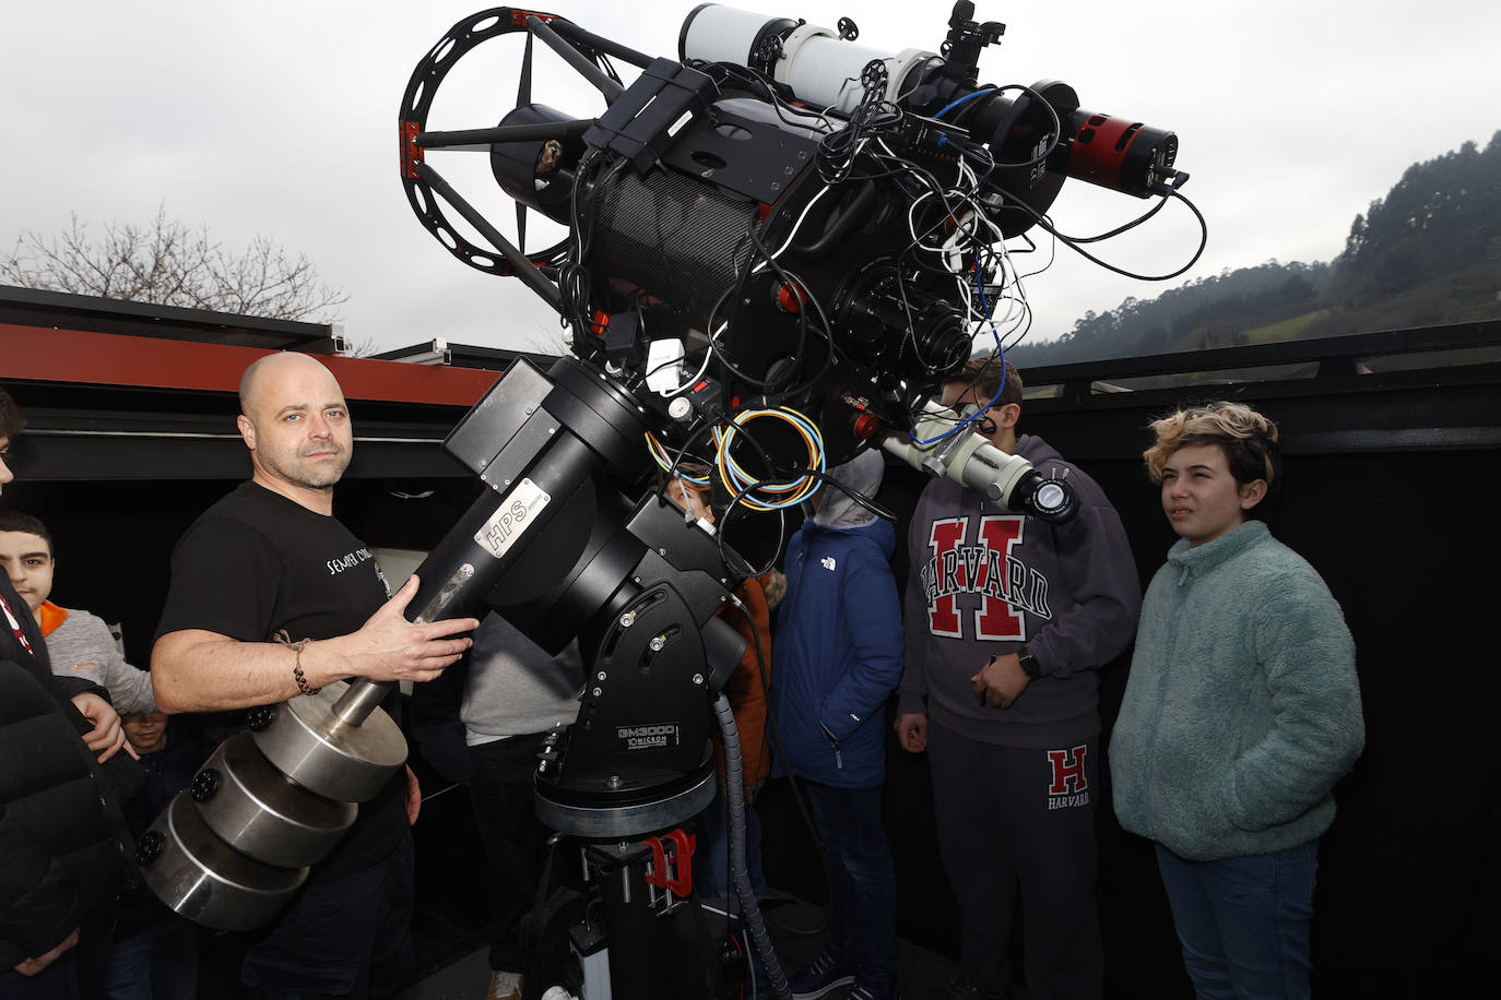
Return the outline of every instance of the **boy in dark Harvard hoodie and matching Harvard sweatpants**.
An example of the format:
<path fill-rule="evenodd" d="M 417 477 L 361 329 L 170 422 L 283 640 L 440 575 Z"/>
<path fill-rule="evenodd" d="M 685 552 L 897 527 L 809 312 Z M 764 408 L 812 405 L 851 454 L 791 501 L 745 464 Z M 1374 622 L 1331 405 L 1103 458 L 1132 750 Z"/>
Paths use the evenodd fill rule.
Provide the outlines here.
<path fill-rule="evenodd" d="M 1009 511 L 940 478 L 908 531 L 907 657 L 898 739 L 926 750 L 938 849 L 959 903 L 961 969 L 949 997 L 1006 997 L 1012 913 L 1025 921 L 1037 1000 L 1097 1000 L 1103 979 L 1094 810 L 1097 670 L 1130 643 L 1141 583 L 1103 490 L 1036 435 L 1018 436 L 1022 384 L 974 358 L 944 405 L 1045 477 L 1067 478 L 1063 525 Z"/>

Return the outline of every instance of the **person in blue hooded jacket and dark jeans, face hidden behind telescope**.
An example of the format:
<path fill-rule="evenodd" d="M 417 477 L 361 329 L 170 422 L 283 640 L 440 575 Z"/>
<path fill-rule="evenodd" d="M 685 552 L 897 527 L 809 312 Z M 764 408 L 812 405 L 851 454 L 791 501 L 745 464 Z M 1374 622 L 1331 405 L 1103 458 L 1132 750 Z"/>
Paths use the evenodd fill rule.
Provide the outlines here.
<path fill-rule="evenodd" d="M 818 513 L 787 549 L 773 645 L 778 768 L 797 775 L 824 841 L 824 954 L 791 978 L 794 1000 L 847 984 L 853 1000 L 895 1000 L 896 873 L 881 829 L 887 696 L 902 676 L 896 529 L 839 486 L 874 498 L 884 459 L 863 451 L 830 472 Z"/>

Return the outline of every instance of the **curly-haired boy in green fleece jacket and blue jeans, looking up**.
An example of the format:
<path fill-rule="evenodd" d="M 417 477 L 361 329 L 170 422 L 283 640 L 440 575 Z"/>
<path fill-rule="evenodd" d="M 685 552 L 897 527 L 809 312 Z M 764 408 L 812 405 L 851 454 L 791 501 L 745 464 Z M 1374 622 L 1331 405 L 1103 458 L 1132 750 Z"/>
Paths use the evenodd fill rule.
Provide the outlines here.
<path fill-rule="evenodd" d="M 1115 814 L 1157 844 L 1198 997 L 1307 997 L 1318 838 L 1364 742 L 1354 642 L 1313 567 L 1250 520 L 1280 486 L 1276 424 L 1211 403 L 1151 429 L 1181 538 L 1141 609 Z"/>

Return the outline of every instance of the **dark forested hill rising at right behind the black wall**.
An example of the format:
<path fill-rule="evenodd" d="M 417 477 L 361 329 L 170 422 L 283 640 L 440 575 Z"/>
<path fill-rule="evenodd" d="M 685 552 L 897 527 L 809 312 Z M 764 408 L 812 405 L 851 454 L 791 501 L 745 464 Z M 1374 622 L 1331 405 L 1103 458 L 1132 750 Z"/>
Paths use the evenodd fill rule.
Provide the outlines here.
<path fill-rule="evenodd" d="M 1165 354 L 1501 318 L 1501 132 L 1481 150 L 1414 163 L 1355 216 L 1331 262 L 1201 277 L 1150 300 L 1088 312 L 1018 366 Z"/>

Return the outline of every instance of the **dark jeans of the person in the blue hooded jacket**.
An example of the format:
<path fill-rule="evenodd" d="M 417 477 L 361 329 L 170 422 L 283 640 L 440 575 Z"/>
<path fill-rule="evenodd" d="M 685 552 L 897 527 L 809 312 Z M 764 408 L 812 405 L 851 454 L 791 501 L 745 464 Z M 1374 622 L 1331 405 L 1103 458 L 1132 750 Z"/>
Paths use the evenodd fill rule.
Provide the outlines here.
<path fill-rule="evenodd" d="M 865 975 L 895 975 L 896 868 L 881 828 L 881 790 L 802 787 L 824 841 L 824 951 Z"/>

